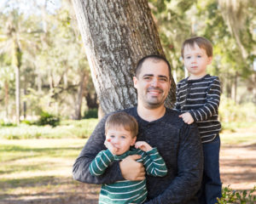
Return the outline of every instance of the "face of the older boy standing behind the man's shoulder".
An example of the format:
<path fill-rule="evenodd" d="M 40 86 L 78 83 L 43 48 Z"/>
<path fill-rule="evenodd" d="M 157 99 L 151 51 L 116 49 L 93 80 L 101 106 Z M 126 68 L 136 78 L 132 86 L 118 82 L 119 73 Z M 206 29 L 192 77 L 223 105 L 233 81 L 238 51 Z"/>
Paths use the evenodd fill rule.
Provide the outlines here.
<path fill-rule="evenodd" d="M 199 79 L 207 74 L 207 65 L 212 63 L 212 57 L 207 56 L 204 48 L 199 48 L 196 43 L 194 44 L 194 48 L 186 45 L 183 56 L 183 62 L 189 71 L 190 79 Z"/>

